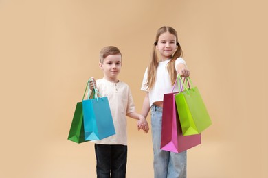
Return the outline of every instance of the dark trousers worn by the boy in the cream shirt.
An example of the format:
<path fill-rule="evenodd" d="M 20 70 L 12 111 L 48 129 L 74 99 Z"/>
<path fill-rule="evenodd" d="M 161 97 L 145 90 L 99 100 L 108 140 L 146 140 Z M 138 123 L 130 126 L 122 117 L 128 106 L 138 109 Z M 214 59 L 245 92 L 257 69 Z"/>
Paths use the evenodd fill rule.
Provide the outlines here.
<path fill-rule="evenodd" d="M 125 178 L 127 146 L 95 144 L 97 178 Z"/>

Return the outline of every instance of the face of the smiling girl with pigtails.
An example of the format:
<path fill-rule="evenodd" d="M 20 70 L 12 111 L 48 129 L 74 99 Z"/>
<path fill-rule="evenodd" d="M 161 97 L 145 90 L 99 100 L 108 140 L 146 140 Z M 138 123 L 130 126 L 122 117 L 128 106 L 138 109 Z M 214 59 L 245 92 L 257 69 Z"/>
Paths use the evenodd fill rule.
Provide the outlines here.
<path fill-rule="evenodd" d="M 177 49 L 176 43 L 176 36 L 169 32 L 165 32 L 159 36 L 157 49 L 159 50 L 162 61 L 168 60 L 172 57 L 172 54 L 175 53 Z"/>

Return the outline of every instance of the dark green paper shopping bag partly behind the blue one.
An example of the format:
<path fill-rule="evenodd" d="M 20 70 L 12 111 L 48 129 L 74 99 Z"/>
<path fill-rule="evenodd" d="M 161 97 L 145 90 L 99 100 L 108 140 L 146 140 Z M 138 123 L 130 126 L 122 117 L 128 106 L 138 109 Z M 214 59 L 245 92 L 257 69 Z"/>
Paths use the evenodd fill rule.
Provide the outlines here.
<path fill-rule="evenodd" d="M 87 91 L 87 86 L 86 86 L 86 90 L 84 92 L 84 96 L 82 100 L 85 97 L 86 91 Z M 85 140 L 85 130 L 84 130 L 83 119 L 84 117 L 83 117 L 83 112 L 82 112 L 82 101 L 81 101 L 76 104 L 76 110 L 74 112 L 73 121 L 71 122 L 71 128 L 69 131 L 68 140 L 71 140 L 76 143 L 82 143 L 82 142 L 88 141 L 88 140 Z"/>

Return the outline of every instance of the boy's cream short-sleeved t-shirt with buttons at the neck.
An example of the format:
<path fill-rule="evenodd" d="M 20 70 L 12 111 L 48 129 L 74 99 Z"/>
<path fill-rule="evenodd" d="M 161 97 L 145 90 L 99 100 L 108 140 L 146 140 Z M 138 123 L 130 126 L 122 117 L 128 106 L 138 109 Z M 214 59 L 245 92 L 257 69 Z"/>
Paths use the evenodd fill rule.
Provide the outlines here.
<path fill-rule="evenodd" d="M 113 117 L 113 125 L 115 127 L 115 135 L 91 142 L 97 144 L 127 145 L 126 114 L 135 112 L 135 105 L 129 86 L 122 81 L 113 83 L 104 78 L 97 79 L 96 84 L 102 97 L 108 98 Z"/>

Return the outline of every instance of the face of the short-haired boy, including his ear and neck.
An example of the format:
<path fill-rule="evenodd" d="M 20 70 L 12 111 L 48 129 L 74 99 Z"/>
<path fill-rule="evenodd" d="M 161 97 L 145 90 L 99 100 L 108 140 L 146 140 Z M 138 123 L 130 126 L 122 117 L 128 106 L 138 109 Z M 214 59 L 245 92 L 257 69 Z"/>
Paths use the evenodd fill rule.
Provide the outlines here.
<path fill-rule="evenodd" d="M 103 63 L 99 63 L 100 68 L 103 70 L 104 78 L 109 81 L 118 81 L 118 74 L 121 70 L 121 55 L 108 55 L 104 58 Z"/>

